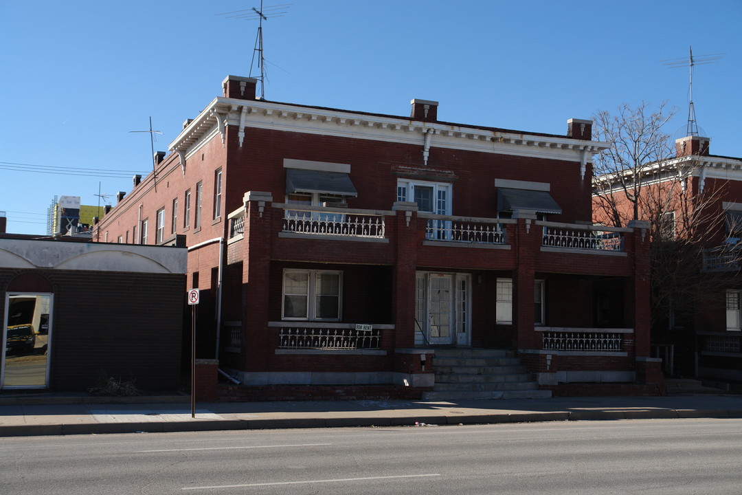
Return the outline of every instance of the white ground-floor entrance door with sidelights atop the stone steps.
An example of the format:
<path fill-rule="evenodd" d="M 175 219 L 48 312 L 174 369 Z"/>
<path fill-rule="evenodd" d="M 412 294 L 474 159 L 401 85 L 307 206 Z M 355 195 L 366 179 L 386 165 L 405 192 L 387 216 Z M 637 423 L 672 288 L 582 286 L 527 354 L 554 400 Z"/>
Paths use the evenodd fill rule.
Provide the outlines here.
<path fill-rule="evenodd" d="M 418 272 L 416 278 L 416 345 L 469 345 L 469 275 Z"/>

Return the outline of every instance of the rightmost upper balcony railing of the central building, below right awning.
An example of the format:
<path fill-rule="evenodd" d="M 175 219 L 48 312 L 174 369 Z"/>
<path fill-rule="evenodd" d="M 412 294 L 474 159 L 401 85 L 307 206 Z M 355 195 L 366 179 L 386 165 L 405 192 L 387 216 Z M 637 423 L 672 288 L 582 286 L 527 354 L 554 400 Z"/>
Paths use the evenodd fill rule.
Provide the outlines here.
<path fill-rule="evenodd" d="M 623 251 L 623 232 L 631 232 L 618 227 L 570 223 L 536 222 L 536 225 L 543 226 L 542 246 L 594 251 Z"/>

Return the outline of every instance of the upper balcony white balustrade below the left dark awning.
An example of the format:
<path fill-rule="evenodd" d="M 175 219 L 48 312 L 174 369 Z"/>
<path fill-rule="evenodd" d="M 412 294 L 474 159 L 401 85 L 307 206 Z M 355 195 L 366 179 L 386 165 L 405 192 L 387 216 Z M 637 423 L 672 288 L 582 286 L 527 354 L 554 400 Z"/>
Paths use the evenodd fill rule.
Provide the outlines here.
<path fill-rule="evenodd" d="M 384 216 L 377 214 L 344 214 L 316 210 L 286 209 L 283 232 L 309 235 L 375 237 L 383 239 Z"/>

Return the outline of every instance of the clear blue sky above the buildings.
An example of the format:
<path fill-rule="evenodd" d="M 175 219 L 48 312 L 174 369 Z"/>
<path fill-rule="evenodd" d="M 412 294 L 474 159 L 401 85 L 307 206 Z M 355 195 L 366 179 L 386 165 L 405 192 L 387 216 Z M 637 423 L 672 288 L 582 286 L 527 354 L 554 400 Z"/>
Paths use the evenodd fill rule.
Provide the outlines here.
<path fill-rule="evenodd" d="M 679 108 L 688 73 L 660 61 L 724 53 L 694 75 L 697 122 L 712 154 L 742 156 L 742 1 L 266 0 L 266 99 L 564 134 L 626 102 Z M 217 13 L 260 0 L 0 0 L 0 211 L 8 232 L 46 232 L 55 195 L 98 203 L 131 191 L 183 120 L 228 74 L 247 76 L 257 21 Z M 680 134 L 684 134 L 681 132 Z M 19 171 L 99 169 L 108 177 Z M 16 168 L 11 170 L 10 168 Z M 89 174 L 89 171 L 84 171 Z M 110 177 L 118 174 L 122 177 Z M 115 203 L 115 197 L 112 197 Z"/>

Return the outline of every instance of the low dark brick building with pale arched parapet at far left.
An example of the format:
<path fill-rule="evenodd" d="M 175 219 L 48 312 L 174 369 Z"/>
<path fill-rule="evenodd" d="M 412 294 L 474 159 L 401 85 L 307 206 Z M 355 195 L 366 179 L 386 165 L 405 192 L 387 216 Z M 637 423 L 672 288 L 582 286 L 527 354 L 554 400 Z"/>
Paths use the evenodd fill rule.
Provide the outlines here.
<path fill-rule="evenodd" d="M 179 390 L 184 248 L 0 235 L 0 388 Z M 22 345 L 27 344 L 27 345 Z"/>

